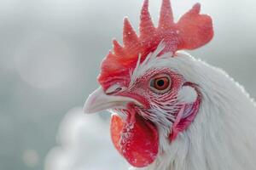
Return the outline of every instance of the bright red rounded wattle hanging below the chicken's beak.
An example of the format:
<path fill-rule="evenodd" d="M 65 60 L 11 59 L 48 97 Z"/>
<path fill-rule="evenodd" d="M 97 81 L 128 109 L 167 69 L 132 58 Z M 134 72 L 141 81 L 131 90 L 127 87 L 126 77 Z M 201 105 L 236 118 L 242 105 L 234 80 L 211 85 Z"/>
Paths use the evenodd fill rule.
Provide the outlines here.
<path fill-rule="evenodd" d="M 159 135 L 156 127 L 137 114 L 127 116 L 125 122 L 113 115 L 111 138 L 115 148 L 133 167 L 147 167 L 158 154 Z"/>

